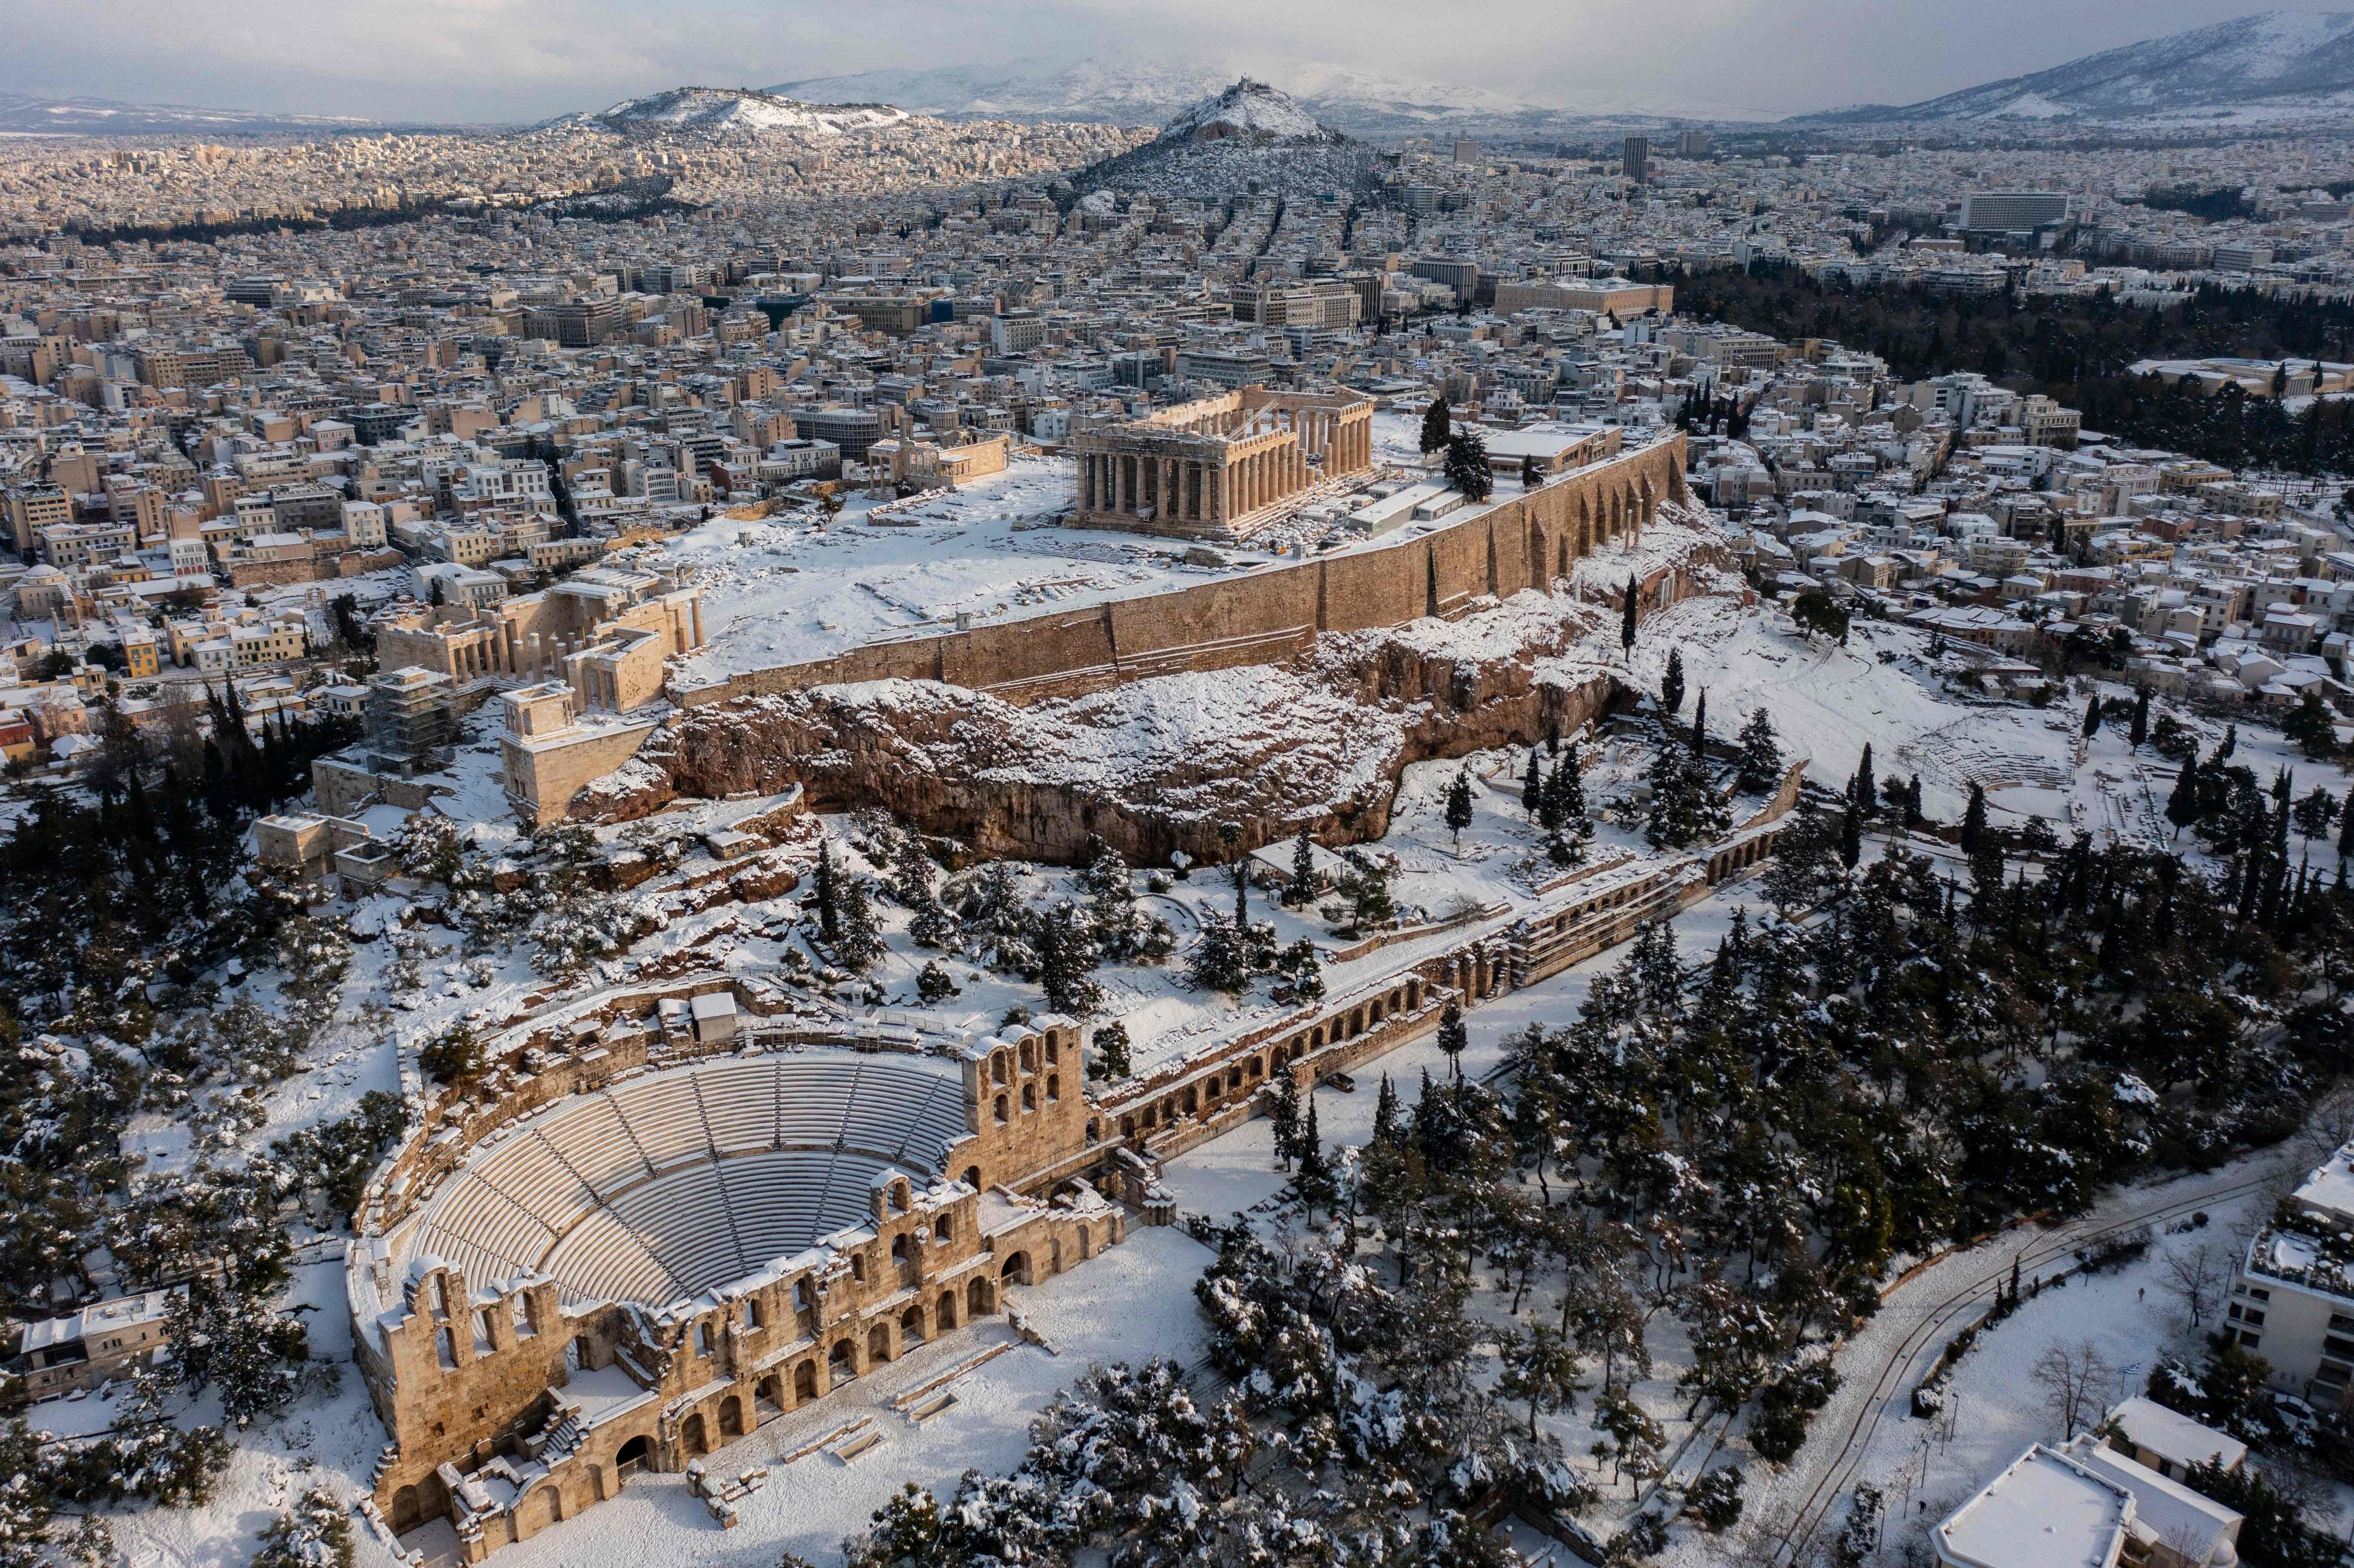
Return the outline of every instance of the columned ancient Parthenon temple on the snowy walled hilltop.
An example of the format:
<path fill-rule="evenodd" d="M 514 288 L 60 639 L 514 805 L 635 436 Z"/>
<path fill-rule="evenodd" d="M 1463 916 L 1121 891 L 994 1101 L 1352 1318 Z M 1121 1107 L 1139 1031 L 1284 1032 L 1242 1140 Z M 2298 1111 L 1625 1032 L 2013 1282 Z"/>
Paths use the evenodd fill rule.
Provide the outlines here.
<path fill-rule="evenodd" d="M 1302 490 L 1372 466 L 1372 400 L 1245 386 L 1085 431 L 1078 525 L 1248 539 Z"/>

